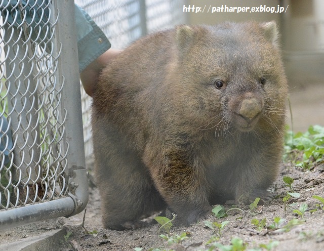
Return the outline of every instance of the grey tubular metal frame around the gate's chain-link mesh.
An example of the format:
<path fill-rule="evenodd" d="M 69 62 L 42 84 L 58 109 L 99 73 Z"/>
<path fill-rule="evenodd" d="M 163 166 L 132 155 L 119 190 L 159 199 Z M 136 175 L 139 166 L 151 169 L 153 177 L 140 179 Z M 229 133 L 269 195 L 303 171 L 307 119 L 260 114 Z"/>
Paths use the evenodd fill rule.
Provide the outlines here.
<path fill-rule="evenodd" d="M 62 52 L 57 71 L 59 81 L 64 83 L 62 109 L 66 110 L 67 116 L 64 124 L 64 147 L 68 149 L 69 193 L 67 197 L 0 211 L 0 230 L 57 217 L 69 217 L 82 212 L 88 202 L 74 1 L 52 3 L 53 11 L 58 10 L 54 15 L 59 15 L 56 41 L 60 43 Z"/>

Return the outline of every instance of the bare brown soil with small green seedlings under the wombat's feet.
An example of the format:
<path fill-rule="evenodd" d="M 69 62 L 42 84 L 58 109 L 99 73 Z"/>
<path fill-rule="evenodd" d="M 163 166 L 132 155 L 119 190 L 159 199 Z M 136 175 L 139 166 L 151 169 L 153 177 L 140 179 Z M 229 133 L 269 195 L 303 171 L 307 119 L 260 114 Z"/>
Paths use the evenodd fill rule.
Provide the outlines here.
<path fill-rule="evenodd" d="M 290 176 L 294 179 L 293 190 L 300 193 L 299 198 L 291 198 L 287 210 L 284 210 L 282 198 L 287 195 L 289 188 L 282 181 L 283 176 Z M 246 250 L 259 248 L 260 244 L 268 244 L 271 241 L 278 241 L 278 245 L 271 250 L 324 250 L 324 211 L 316 204 L 321 204 L 312 198 L 312 195 L 324 197 L 324 173 L 318 169 L 303 172 L 295 168 L 292 164 L 285 164 L 281 167 L 281 172 L 271 188 L 275 194 L 274 198 L 265 205 L 258 206 L 251 211 L 249 206 L 237 206 L 239 210 L 231 210 L 229 215 L 222 219 L 209 217 L 211 222 L 229 221 L 222 231 L 222 235 L 217 242 L 224 245 L 230 244 L 233 237 L 240 238 L 246 245 Z M 142 247 L 148 250 L 152 247 L 165 248 L 166 250 L 207 250 L 207 242 L 212 236 L 217 236 L 213 229 L 207 228 L 204 222 L 199 222 L 190 227 L 171 228 L 171 235 L 187 232 L 190 236 L 181 245 L 168 246 L 167 241 L 160 238 L 159 234 L 165 234 L 159 230 L 158 224 L 138 230 L 112 231 L 101 228 L 100 197 L 98 189 L 90 182 L 89 203 L 86 214 L 81 213 L 69 219 L 64 219 L 64 227 L 71 235 L 68 241 L 63 243 L 60 250 L 134 250 L 135 247 Z M 308 209 L 303 218 L 293 213 L 298 210 L 302 203 L 307 203 Z M 228 210 L 231 205 L 225 205 Z M 317 209 L 315 212 L 311 210 Z M 84 228 L 82 227 L 85 216 Z M 266 226 L 273 223 L 274 217 L 285 219 L 278 229 L 263 227 L 257 230 L 251 224 L 252 219 L 261 221 L 266 218 Z M 292 219 L 298 219 L 298 225 L 287 228 L 285 225 Z M 61 219 L 62 220 L 62 219 Z M 154 222 L 154 220 L 152 221 Z M 87 229 L 88 233 L 85 231 Z M 96 232 L 97 231 L 97 232 Z M 89 233 L 90 232 L 90 233 Z M 218 249 L 209 249 L 218 250 Z M 220 250 L 220 249 L 219 249 Z M 265 248 L 260 250 L 266 250 Z"/>

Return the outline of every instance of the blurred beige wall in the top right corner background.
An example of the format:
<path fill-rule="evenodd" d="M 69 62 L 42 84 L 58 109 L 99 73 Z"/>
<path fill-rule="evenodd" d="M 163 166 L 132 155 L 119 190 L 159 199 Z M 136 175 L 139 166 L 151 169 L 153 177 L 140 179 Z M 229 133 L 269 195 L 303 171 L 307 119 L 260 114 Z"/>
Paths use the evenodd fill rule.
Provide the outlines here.
<path fill-rule="evenodd" d="M 290 86 L 324 84 L 324 1 L 286 0 L 292 8 L 282 20 L 286 72 Z"/>

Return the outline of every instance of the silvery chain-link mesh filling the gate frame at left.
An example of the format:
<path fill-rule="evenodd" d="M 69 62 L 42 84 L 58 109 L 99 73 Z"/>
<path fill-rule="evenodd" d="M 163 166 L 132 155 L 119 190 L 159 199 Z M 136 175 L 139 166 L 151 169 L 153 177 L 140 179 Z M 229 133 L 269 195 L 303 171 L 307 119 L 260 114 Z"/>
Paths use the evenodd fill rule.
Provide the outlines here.
<path fill-rule="evenodd" d="M 68 191 L 58 15 L 52 1 L 27 2 L 0 4 L 0 210 Z"/>

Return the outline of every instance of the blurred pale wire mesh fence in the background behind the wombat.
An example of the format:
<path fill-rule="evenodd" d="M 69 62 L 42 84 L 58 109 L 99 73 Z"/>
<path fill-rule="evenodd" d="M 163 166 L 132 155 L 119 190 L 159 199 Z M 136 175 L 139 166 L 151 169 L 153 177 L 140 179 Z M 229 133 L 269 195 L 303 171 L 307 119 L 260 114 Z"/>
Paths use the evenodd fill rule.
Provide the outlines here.
<path fill-rule="evenodd" d="M 184 0 L 75 0 L 108 37 L 112 48 L 124 49 L 134 40 L 156 30 L 185 22 Z M 92 160 L 91 98 L 82 91 L 84 139 L 87 162 Z"/>

